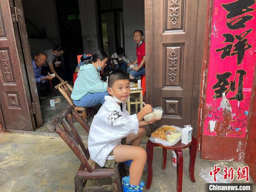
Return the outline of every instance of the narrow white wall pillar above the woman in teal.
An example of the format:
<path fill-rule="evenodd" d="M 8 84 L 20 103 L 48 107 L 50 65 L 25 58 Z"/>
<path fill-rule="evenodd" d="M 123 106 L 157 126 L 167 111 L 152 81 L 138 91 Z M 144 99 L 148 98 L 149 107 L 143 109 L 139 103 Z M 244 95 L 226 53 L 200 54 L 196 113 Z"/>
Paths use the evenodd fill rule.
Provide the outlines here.
<path fill-rule="evenodd" d="M 95 0 L 79 0 L 79 12 L 84 53 L 95 52 L 100 48 L 97 6 Z"/>

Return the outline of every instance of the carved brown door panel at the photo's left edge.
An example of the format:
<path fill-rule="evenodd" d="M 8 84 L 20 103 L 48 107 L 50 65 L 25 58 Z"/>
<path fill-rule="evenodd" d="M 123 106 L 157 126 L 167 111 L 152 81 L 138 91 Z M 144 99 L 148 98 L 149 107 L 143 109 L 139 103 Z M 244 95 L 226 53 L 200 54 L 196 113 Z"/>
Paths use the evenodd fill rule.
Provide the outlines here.
<path fill-rule="evenodd" d="M 23 80 L 21 67 L 23 58 L 20 61 L 20 47 L 17 46 L 19 39 L 15 38 L 12 14 L 7 0 L 0 0 L 0 17 L 0 99 L 5 128 L 33 131 L 33 109 L 29 108 L 31 101 L 28 101 L 25 90 L 27 82 Z"/>

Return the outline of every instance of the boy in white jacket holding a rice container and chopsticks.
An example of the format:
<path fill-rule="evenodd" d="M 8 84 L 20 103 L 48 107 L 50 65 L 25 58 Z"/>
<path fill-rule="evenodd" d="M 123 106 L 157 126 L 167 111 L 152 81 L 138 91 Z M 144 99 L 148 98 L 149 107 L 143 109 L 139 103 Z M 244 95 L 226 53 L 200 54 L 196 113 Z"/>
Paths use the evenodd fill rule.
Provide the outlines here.
<path fill-rule="evenodd" d="M 139 185 L 147 160 L 146 151 L 139 147 L 146 133 L 143 126 L 156 121 L 153 119 L 146 122 L 142 119 L 152 112 L 152 106 L 144 106 L 138 114 L 128 113 L 125 101 L 130 94 L 130 80 L 129 75 L 121 70 L 109 75 L 108 93 L 111 96 L 105 96 L 105 103 L 91 124 L 88 139 L 90 157 L 99 166 L 109 168 L 132 160 L 130 184 Z M 127 145 L 128 143 L 131 145 Z"/>

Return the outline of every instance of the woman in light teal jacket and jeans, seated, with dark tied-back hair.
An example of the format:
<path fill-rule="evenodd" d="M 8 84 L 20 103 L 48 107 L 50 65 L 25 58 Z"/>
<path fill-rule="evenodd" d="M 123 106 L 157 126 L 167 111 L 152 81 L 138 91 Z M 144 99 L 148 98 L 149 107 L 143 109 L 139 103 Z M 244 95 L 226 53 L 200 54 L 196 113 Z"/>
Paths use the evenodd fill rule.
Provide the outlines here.
<path fill-rule="evenodd" d="M 77 107 L 91 107 L 103 104 L 108 84 L 100 78 L 99 71 L 107 65 L 108 54 L 103 50 L 97 50 L 91 56 L 92 63 L 83 65 L 79 69 L 78 78 L 75 81 L 71 98 Z"/>

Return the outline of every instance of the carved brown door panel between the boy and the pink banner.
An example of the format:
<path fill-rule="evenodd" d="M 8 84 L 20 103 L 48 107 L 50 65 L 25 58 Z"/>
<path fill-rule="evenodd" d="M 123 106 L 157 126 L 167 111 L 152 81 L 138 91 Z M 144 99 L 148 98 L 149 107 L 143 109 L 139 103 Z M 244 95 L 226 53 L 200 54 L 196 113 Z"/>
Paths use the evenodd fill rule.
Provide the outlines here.
<path fill-rule="evenodd" d="M 191 124 L 197 6 L 198 0 L 153 1 L 153 106 L 164 111 L 156 127 Z"/>

